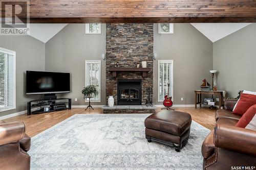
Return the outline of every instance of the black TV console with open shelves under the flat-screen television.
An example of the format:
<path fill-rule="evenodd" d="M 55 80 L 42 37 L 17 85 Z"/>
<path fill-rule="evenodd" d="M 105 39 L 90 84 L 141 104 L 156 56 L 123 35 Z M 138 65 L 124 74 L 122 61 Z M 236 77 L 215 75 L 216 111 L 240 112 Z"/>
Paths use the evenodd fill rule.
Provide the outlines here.
<path fill-rule="evenodd" d="M 40 99 L 40 100 L 29 101 L 27 102 L 27 115 L 58 111 L 58 110 L 51 109 L 50 105 L 56 106 L 60 104 L 62 105 L 68 104 L 68 109 L 71 109 L 70 98 L 57 98 L 52 100 Z M 39 108 L 39 109 L 35 111 L 31 111 L 32 108 Z M 63 110 L 63 107 L 61 108 L 61 110 Z"/>

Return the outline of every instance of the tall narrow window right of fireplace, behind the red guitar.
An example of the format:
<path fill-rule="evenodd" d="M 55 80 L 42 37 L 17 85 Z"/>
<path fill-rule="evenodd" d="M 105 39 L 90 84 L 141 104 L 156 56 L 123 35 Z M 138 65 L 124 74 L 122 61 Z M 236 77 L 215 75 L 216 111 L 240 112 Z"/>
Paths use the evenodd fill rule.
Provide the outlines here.
<path fill-rule="evenodd" d="M 167 95 L 168 83 L 169 96 L 173 101 L 173 63 L 173 60 L 158 60 L 158 102 L 162 102 Z"/>

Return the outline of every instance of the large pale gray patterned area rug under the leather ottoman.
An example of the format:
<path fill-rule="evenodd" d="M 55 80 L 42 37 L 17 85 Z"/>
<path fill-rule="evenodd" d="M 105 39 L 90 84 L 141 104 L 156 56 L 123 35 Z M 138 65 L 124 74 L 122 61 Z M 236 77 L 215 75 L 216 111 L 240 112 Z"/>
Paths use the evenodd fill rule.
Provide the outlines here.
<path fill-rule="evenodd" d="M 192 122 L 188 143 L 176 152 L 148 143 L 149 114 L 76 114 L 32 138 L 31 169 L 202 169 L 209 130 Z"/>

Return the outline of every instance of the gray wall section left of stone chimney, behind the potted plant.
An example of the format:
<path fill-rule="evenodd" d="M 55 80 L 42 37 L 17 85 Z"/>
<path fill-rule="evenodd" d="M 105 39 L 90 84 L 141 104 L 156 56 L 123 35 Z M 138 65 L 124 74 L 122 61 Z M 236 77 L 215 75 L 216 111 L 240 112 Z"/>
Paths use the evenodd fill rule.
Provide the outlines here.
<path fill-rule="evenodd" d="M 86 105 L 82 88 L 85 85 L 85 60 L 101 60 L 101 102 L 105 104 L 105 53 L 106 29 L 101 25 L 101 34 L 85 34 L 84 24 L 69 24 L 46 43 L 46 71 L 71 73 L 71 93 L 62 94 L 72 98 L 73 105 Z M 61 94 L 58 94 L 59 96 Z M 77 98 L 77 102 L 75 102 Z"/>

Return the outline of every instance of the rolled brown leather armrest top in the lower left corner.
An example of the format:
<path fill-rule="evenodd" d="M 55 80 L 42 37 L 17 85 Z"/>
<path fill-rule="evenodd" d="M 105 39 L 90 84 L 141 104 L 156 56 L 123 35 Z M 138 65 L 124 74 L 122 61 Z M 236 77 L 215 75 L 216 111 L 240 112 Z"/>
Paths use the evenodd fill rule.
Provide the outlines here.
<path fill-rule="evenodd" d="M 0 145 L 19 141 L 25 135 L 23 122 L 0 124 Z"/>

